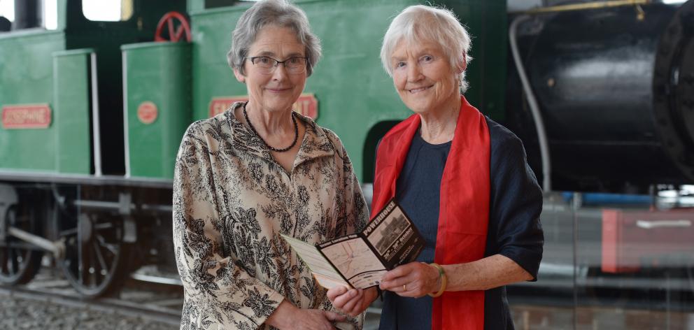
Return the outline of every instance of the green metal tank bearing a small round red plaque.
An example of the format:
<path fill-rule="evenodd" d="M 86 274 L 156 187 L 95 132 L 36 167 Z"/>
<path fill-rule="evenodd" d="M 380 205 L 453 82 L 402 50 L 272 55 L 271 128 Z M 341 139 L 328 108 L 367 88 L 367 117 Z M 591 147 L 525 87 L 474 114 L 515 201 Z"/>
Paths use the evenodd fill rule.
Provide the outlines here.
<path fill-rule="evenodd" d="M 174 178 L 176 152 L 191 121 L 190 44 L 124 45 L 129 175 Z M 157 109 L 151 119 L 151 102 Z M 150 103 L 150 104 L 151 104 Z M 139 108 L 144 106 L 139 114 Z M 145 111 L 148 110 L 148 111 Z"/>

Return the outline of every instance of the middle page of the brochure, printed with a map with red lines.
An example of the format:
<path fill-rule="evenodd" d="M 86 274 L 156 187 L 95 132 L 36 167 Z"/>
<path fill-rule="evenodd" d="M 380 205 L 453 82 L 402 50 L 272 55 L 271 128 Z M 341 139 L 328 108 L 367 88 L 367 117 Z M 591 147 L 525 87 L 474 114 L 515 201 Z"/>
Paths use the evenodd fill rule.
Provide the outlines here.
<path fill-rule="evenodd" d="M 381 260 L 359 235 L 349 235 L 344 241 L 320 246 L 320 252 L 357 289 L 378 285 L 386 272 Z"/>

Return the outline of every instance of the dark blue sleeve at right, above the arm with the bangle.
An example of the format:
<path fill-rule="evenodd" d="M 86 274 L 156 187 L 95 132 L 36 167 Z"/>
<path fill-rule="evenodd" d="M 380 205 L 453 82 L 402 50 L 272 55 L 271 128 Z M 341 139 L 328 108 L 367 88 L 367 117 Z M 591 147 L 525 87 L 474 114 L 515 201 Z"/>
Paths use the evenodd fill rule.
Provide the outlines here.
<path fill-rule="evenodd" d="M 542 191 L 520 139 L 491 120 L 488 127 L 491 185 L 486 254 L 502 254 L 516 261 L 535 281 L 544 244 L 539 218 Z"/>

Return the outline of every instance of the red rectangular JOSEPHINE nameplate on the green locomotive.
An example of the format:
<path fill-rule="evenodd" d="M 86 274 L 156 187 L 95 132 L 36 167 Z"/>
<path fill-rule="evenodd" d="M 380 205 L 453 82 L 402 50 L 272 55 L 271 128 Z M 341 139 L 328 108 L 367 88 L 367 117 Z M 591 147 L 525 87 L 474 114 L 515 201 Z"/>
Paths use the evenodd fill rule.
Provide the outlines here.
<path fill-rule="evenodd" d="M 46 129 L 50 127 L 48 104 L 26 104 L 2 107 L 3 129 Z"/>

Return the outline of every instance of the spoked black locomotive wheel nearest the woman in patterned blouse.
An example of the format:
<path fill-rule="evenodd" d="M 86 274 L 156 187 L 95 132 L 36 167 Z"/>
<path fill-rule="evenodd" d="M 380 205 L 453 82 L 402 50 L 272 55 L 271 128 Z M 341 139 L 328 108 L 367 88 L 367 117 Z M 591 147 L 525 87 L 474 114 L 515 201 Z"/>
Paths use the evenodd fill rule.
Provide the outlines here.
<path fill-rule="evenodd" d="M 120 217 L 81 214 L 59 222 L 65 244 L 62 269 L 71 285 L 89 298 L 118 292 L 129 274 L 130 246 L 122 238 Z"/>

